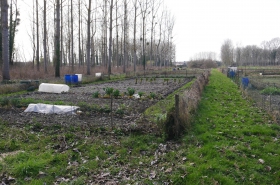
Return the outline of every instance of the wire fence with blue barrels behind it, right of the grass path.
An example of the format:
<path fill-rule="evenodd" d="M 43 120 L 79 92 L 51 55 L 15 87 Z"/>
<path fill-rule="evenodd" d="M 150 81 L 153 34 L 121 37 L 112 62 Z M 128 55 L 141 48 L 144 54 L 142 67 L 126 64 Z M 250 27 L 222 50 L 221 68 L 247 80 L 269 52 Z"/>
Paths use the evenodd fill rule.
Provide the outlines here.
<path fill-rule="evenodd" d="M 256 106 L 269 113 L 275 122 L 280 123 L 280 95 L 265 89 L 280 88 L 279 69 L 238 70 L 229 76 L 227 69 L 221 71 L 231 78 L 241 89 L 244 96 L 253 100 Z"/>

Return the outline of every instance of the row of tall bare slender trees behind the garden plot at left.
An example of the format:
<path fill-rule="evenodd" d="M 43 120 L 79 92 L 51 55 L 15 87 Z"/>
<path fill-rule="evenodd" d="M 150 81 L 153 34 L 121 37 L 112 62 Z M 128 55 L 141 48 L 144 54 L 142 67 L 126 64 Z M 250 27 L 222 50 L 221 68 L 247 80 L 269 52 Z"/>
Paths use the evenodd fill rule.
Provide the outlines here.
<path fill-rule="evenodd" d="M 93 67 L 104 66 L 110 76 L 112 67 L 123 72 L 128 67 L 136 71 L 136 66 L 146 70 L 148 63 L 164 67 L 175 60 L 175 20 L 164 0 L 32 0 L 28 4 L 25 21 L 30 22 L 31 61 L 14 44 L 20 23 L 18 1 L 1 0 L 3 80 L 10 79 L 9 66 L 14 62 L 31 62 L 34 70 L 44 73 L 52 65 L 55 77 L 60 77 L 62 66 L 73 72 L 86 66 L 88 75 Z"/>

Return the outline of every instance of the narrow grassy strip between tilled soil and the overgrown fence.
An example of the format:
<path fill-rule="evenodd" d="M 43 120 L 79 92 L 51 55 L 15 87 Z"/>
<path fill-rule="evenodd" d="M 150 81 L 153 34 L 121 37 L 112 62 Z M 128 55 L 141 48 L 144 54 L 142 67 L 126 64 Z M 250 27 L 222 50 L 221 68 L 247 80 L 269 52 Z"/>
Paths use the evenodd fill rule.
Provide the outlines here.
<path fill-rule="evenodd" d="M 153 106 L 147 108 L 144 112 L 144 116 L 148 118 L 149 121 L 156 123 L 161 117 L 166 117 L 166 114 L 175 106 L 176 94 L 180 94 L 183 91 L 189 89 L 196 79 L 180 87 L 173 93 L 169 94 L 165 99 L 158 101 Z"/>

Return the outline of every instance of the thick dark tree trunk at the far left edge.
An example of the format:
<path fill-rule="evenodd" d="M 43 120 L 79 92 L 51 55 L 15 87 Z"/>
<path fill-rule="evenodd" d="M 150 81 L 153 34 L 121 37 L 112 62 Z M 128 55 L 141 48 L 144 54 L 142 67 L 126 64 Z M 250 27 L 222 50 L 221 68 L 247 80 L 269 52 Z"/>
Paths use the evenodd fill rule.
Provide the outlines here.
<path fill-rule="evenodd" d="M 9 28 L 8 28 L 8 2 L 1 2 L 1 19 L 2 19 L 2 60 L 3 60 L 3 80 L 10 80 L 9 69 Z"/>

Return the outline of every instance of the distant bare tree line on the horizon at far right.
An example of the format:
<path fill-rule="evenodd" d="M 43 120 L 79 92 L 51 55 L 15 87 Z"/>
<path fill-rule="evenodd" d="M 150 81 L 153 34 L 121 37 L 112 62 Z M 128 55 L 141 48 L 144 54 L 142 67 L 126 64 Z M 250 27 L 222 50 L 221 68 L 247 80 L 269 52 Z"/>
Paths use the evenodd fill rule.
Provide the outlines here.
<path fill-rule="evenodd" d="M 230 39 L 221 46 L 221 60 L 227 65 L 274 66 L 280 64 L 280 38 L 263 41 L 260 46 L 234 47 Z"/>

